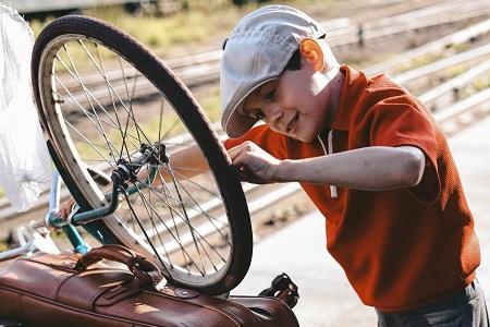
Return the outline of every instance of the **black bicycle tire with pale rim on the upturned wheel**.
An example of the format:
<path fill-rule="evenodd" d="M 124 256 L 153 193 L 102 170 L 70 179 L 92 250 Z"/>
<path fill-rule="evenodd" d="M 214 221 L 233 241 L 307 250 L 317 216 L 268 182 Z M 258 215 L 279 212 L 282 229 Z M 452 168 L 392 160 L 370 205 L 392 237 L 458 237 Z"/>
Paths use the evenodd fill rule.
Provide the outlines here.
<path fill-rule="evenodd" d="M 167 68 L 159 58 L 152 55 L 133 37 L 124 34 L 112 25 L 97 19 L 77 15 L 63 16 L 48 24 L 34 45 L 32 59 L 32 81 L 40 120 L 46 131 L 46 135 L 57 155 L 56 165 L 64 174 L 62 175 L 63 180 L 70 181 L 70 191 L 72 194 L 76 195 L 77 198 L 75 199 L 77 202 L 82 202 L 91 208 L 97 208 L 106 204 L 101 190 L 99 190 L 96 183 L 90 180 L 86 164 L 81 158 L 81 155 L 76 153 L 77 148 L 74 145 L 75 142 L 71 138 L 72 135 L 66 132 L 69 129 L 66 128 L 66 118 L 63 117 L 62 109 L 60 109 L 64 104 L 58 99 L 59 95 L 56 95 L 58 90 L 56 88 L 57 76 L 53 73 L 54 63 L 57 60 L 61 61 L 57 56 L 59 56 L 59 51 L 61 51 L 62 48 L 66 50 L 66 44 L 69 41 L 78 40 L 79 44 L 83 44 L 81 41 L 82 39 L 83 43 L 94 43 L 96 48 L 103 47 L 103 49 L 108 49 L 119 56 L 118 59 L 120 61 L 122 59 L 130 63 L 136 71 L 146 77 L 162 95 L 162 98 L 173 107 L 176 116 L 185 125 L 187 132 L 203 150 L 210 171 L 212 172 L 212 177 L 217 182 L 216 186 L 220 194 L 219 201 L 222 201 L 224 206 L 223 209 L 228 217 L 229 226 L 226 227 L 226 231 L 230 233 L 228 238 L 231 240 L 231 249 L 229 250 L 226 262 L 219 270 L 207 274 L 206 276 L 200 276 L 203 275 L 201 271 L 199 272 L 200 275 L 191 274 L 188 267 L 186 267 L 185 269 L 187 270 L 185 270 L 182 267 L 175 267 L 172 263 L 161 259 L 157 261 L 155 253 L 149 251 L 148 246 L 143 246 L 139 239 L 135 241 L 134 234 L 132 234 L 132 231 L 125 226 L 126 223 L 122 221 L 118 215 L 106 217 L 100 220 L 100 222 L 110 230 L 113 234 L 110 237 L 114 237 L 119 243 L 150 256 L 157 264 L 160 264 L 160 267 L 163 266 L 162 268 L 164 269 L 162 269 L 162 271 L 166 277 L 173 280 L 177 286 L 192 288 L 209 294 L 221 294 L 230 291 L 240 283 L 248 270 L 252 261 L 253 242 L 245 196 L 237 173 L 231 165 L 231 160 L 224 150 L 224 147 L 219 142 L 217 134 L 211 129 L 209 121 L 203 113 L 197 101 L 193 98 L 191 92 L 176 76 L 174 76 L 171 70 Z M 105 76 L 105 78 L 107 80 L 107 76 Z M 126 81 L 124 81 L 124 83 Z M 106 81 L 106 83 L 108 85 L 110 84 L 108 81 Z M 81 84 L 84 88 L 83 82 Z M 135 84 L 136 82 L 134 82 L 134 85 Z M 85 88 L 83 90 L 87 93 Z M 109 94 L 110 93 L 111 90 L 109 90 Z M 128 93 L 127 97 L 131 101 Z M 115 109 L 115 106 L 114 110 L 118 110 Z M 131 110 L 133 109 L 131 108 Z M 134 119 L 135 114 L 132 114 L 133 117 L 131 119 Z M 127 113 L 128 117 L 132 114 Z M 108 117 L 110 117 L 109 113 Z M 130 118 L 126 119 L 126 122 L 127 120 L 130 120 Z M 119 128 L 121 129 L 121 126 Z M 139 126 L 136 126 L 136 129 L 138 128 Z M 103 133 L 105 132 L 102 131 L 102 134 Z M 126 134 L 123 135 L 123 137 L 125 136 Z M 123 140 L 123 143 L 125 141 Z M 124 146 L 121 146 L 121 153 L 123 147 Z M 131 156 L 132 154 L 128 152 L 127 155 Z M 179 183 L 182 185 L 183 182 L 179 181 Z M 175 187 L 177 187 L 177 184 L 175 184 Z M 179 196 L 181 195 L 179 194 Z M 182 199 L 181 202 L 183 203 Z M 128 206 L 131 207 L 131 203 Z M 184 204 L 181 204 L 181 206 L 184 206 Z M 171 209 L 169 210 L 171 211 Z M 134 210 L 133 214 L 134 217 L 137 218 Z M 173 217 L 174 214 L 171 215 Z M 187 214 L 185 214 L 185 216 L 187 217 Z M 150 219 L 152 218 L 150 217 Z M 195 231 L 193 231 L 193 227 L 187 226 L 187 228 L 191 229 L 191 233 L 194 238 Z M 101 232 L 107 233 L 107 230 L 102 230 Z M 200 234 L 198 234 L 198 237 L 200 237 Z M 150 242 L 149 239 L 147 239 L 147 241 Z M 196 243 L 196 240 L 194 240 L 194 243 Z M 180 246 L 182 247 L 182 245 Z M 184 259 L 186 259 L 186 255 L 188 254 L 184 254 Z"/>

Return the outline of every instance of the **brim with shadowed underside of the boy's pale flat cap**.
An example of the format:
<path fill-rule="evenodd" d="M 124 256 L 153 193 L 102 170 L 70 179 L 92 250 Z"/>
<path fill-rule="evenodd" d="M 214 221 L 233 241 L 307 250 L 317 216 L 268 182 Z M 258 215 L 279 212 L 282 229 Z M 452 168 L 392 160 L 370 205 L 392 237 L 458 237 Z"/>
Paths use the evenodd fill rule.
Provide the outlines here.
<path fill-rule="evenodd" d="M 264 84 L 277 78 L 278 76 L 267 78 L 255 85 L 247 93 L 245 93 L 245 95 L 242 96 L 242 98 L 236 102 L 235 107 L 231 110 L 226 123 L 224 124 L 228 136 L 230 136 L 231 138 L 238 138 L 243 136 L 248 130 L 250 130 L 257 123 L 258 119 L 241 114 L 238 112 L 240 108 L 243 107 L 245 98 L 249 96 L 254 90 L 256 90 Z"/>

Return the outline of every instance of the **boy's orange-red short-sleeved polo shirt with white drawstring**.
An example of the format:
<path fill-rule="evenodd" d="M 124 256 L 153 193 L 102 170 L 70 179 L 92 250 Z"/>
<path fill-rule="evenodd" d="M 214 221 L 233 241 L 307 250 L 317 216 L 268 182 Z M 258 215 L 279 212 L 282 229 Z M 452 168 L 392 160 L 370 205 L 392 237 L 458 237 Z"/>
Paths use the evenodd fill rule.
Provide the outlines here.
<path fill-rule="evenodd" d="M 367 78 L 342 66 L 345 84 L 332 121 L 333 153 L 367 146 L 416 146 L 426 155 L 413 189 L 367 192 L 302 183 L 326 217 L 327 249 L 360 300 L 385 312 L 416 308 L 471 282 L 480 263 L 474 220 L 444 135 L 427 109 L 385 75 Z M 250 140 L 280 159 L 323 156 L 266 125 Z M 328 143 L 327 140 L 323 140 Z M 333 194 L 335 195 L 335 194 Z"/>

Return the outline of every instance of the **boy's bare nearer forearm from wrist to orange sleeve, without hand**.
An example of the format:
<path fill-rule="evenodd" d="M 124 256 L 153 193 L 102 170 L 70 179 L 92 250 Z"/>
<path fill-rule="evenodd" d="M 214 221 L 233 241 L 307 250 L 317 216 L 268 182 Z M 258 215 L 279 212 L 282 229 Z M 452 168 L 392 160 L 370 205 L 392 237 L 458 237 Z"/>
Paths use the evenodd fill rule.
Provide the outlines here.
<path fill-rule="evenodd" d="M 366 147 L 301 160 L 283 160 L 275 180 L 329 184 L 364 191 L 387 191 L 418 184 L 425 157 L 418 148 Z"/>

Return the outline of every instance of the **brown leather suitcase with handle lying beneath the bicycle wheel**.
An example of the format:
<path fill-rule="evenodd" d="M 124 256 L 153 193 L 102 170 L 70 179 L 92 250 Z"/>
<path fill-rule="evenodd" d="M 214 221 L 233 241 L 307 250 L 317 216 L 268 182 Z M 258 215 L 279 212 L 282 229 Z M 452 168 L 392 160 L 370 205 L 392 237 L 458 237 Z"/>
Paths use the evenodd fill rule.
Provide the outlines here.
<path fill-rule="evenodd" d="M 128 269 L 103 265 L 122 263 Z M 105 245 L 84 256 L 38 253 L 0 270 L 0 317 L 27 326 L 298 326 L 273 296 L 228 300 L 160 286 L 158 268 Z"/>

